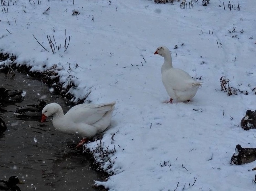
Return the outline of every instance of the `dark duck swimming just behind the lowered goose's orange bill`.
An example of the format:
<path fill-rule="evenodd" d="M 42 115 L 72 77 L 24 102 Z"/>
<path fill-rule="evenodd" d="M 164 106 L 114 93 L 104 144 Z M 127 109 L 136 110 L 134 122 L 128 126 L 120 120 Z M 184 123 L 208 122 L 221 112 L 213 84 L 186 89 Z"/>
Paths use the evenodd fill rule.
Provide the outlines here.
<path fill-rule="evenodd" d="M 46 106 L 45 101 L 41 101 L 39 105 L 31 104 L 19 107 L 15 110 L 15 115 L 36 117 L 42 115 L 42 110 Z"/>

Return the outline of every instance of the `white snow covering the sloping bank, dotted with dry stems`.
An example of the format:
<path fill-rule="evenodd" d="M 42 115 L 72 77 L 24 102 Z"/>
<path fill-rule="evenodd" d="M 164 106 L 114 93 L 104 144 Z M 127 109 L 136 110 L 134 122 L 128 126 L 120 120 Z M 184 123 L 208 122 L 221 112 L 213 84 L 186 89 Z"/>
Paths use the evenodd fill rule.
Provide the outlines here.
<path fill-rule="evenodd" d="M 256 130 L 239 126 L 246 110 L 256 109 L 256 4 L 240 0 L 238 11 L 237 1 L 230 2 L 231 10 L 227 0 L 207 6 L 199 0 L 192 9 L 187 2 L 184 10 L 176 1 L 2 0 L 0 50 L 32 71 L 55 65 L 61 82 L 77 85 L 71 90 L 76 98 L 91 90 L 93 103 L 117 102 L 101 140 L 113 152 L 102 161 L 95 150 L 113 175 L 97 185 L 110 191 L 254 190 L 256 162 L 237 166 L 230 158 L 237 144 L 256 148 Z M 55 53 L 47 36 L 60 46 Z M 160 45 L 172 52 L 174 67 L 202 76 L 189 103 L 163 103 L 170 99 L 161 81 L 163 58 L 153 55 Z M 221 91 L 221 76 L 243 93 Z"/>

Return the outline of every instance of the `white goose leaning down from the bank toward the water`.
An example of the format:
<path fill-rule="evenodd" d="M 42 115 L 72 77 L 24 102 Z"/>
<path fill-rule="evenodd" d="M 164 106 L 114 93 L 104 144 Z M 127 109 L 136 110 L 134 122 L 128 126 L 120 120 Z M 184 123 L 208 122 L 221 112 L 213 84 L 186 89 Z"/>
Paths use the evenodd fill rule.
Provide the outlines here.
<path fill-rule="evenodd" d="M 82 145 L 89 137 L 104 131 L 110 120 L 116 102 L 105 104 L 79 104 L 64 115 L 59 104 L 47 104 L 42 110 L 42 120 L 53 114 L 53 126 L 66 134 L 80 135 L 83 137 L 78 146 Z"/>

